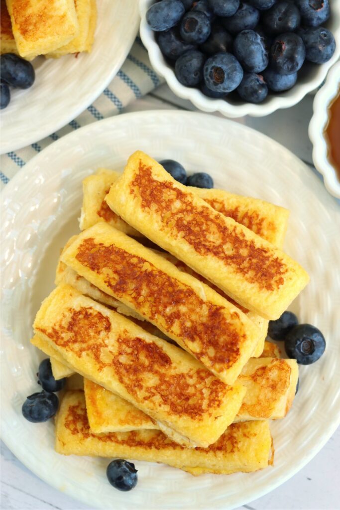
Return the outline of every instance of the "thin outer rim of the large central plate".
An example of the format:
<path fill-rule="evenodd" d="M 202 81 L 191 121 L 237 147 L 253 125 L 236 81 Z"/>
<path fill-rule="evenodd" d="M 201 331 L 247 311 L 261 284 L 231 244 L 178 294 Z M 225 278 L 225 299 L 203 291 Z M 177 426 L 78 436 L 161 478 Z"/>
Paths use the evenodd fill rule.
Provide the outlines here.
<path fill-rule="evenodd" d="M 59 144 L 62 145 L 63 143 L 65 143 L 65 139 L 67 139 L 67 141 L 68 141 L 69 139 L 72 139 L 72 137 L 75 138 L 75 139 L 77 137 L 82 137 L 83 134 L 85 134 L 86 132 L 91 131 L 92 129 L 94 129 L 94 126 L 98 126 L 99 123 L 101 123 L 101 124 L 104 124 L 104 123 L 111 124 L 111 123 L 113 123 L 114 124 L 115 122 L 119 122 L 119 120 L 121 118 L 126 118 L 126 117 L 131 119 L 130 120 L 130 122 L 131 122 L 131 121 L 133 121 L 133 119 L 135 117 L 145 117 L 145 116 L 149 116 L 149 115 L 150 116 L 154 116 L 154 115 L 167 115 L 167 116 L 170 116 L 170 117 L 193 117 L 193 116 L 195 116 L 195 117 L 201 117 L 202 120 L 203 120 L 203 119 L 206 118 L 206 115 L 208 115 L 208 114 L 205 114 L 205 113 L 202 113 L 202 112 L 186 112 L 186 111 L 180 111 L 180 110 L 146 110 L 146 111 L 138 111 L 138 112 L 125 113 L 125 114 L 121 114 L 119 116 L 114 116 L 114 117 L 109 117 L 107 119 L 102 119 L 102 120 L 100 120 L 98 122 L 94 122 L 94 123 L 85 125 L 85 126 L 81 127 L 79 130 L 77 130 L 75 132 L 72 132 L 72 133 L 69 133 L 69 134 L 65 135 L 64 137 L 60 138 L 59 140 L 55 141 L 53 144 L 50 144 L 49 146 L 44 148 L 41 152 L 39 152 L 39 154 L 34 156 L 29 161 L 29 163 L 27 163 L 27 165 L 25 165 L 25 167 L 23 167 L 23 169 L 21 169 L 21 171 L 25 171 L 25 172 L 29 172 L 29 173 L 35 172 L 35 170 L 36 170 L 35 166 L 37 164 L 39 164 L 39 159 L 40 158 L 44 158 L 45 155 L 46 155 L 46 152 L 48 152 L 49 150 L 52 150 L 52 147 L 53 147 L 53 149 L 55 149 L 57 147 L 57 145 L 59 145 Z M 213 115 L 208 115 L 208 116 L 209 117 L 213 117 L 215 122 L 216 121 L 218 123 L 221 122 L 223 125 L 225 125 L 225 123 L 227 122 L 227 123 L 229 123 L 229 125 L 232 125 L 233 127 L 236 127 L 240 131 L 246 130 L 246 131 L 249 131 L 249 132 L 251 132 L 253 134 L 256 134 L 256 136 L 265 139 L 267 143 L 271 143 L 274 150 L 275 150 L 275 147 L 280 147 L 280 149 L 281 150 L 283 149 L 285 152 L 287 152 L 290 155 L 291 158 L 294 158 L 295 160 L 297 160 L 299 162 L 300 166 L 303 166 L 305 168 L 306 172 L 308 172 L 308 178 L 309 179 L 311 179 L 314 182 L 317 182 L 318 185 L 322 186 L 322 183 L 320 182 L 318 176 L 316 174 L 314 174 L 313 172 L 311 172 L 311 170 L 308 168 L 306 163 L 304 163 L 302 160 L 300 160 L 300 158 L 298 158 L 295 154 L 293 154 L 293 152 L 291 152 L 289 149 L 287 149 L 286 147 L 281 145 L 279 142 L 271 139 L 269 136 L 264 135 L 263 133 L 260 133 L 259 131 L 254 130 L 252 127 L 246 126 L 244 124 L 237 123 L 237 122 L 235 122 L 235 121 L 233 121 L 231 119 L 216 118 Z M 21 171 L 17 172 L 15 174 L 15 176 L 11 179 L 11 181 L 3 189 L 3 191 L 2 191 L 2 193 L 0 195 L 0 205 L 1 205 L 1 207 L 3 207 L 4 200 L 6 198 L 8 198 L 8 196 L 11 195 L 12 188 L 14 188 L 17 184 L 19 184 L 20 177 L 22 175 Z M 340 214 L 338 214 L 338 217 L 340 218 Z M 1 233 L 2 232 L 3 232 L 3 228 L 1 228 Z M 3 420 L 1 420 L 1 421 L 3 422 Z M 244 499 L 241 499 L 241 497 L 240 497 L 240 500 L 238 501 L 238 504 L 241 506 L 243 504 L 246 504 L 249 501 L 252 501 L 252 500 L 255 500 L 257 498 L 260 498 L 261 496 L 264 496 L 265 494 L 268 494 L 269 492 L 271 492 L 274 489 L 276 489 L 277 487 L 279 487 L 282 483 L 284 483 L 285 481 L 287 481 L 290 478 L 292 478 L 298 471 L 300 471 L 306 464 L 308 464 L 312 460 L 312 458 L 324 447 L 324 445 L 331 438 L 331 436 L 333 435 L 333 433 L 335 432 L 335 430 L 337 429 L 337 427 L 339 425 L 340 425 L 340 415 L 338 415 L 337 417 L 334 416 L 334 418 L 330 421 L 330 426 L 328 427 L 327 433 L 323 437 L 322 441 L 320 441 L 320 443 L 318 443 L 315 446 L 313 446 L 312 448 L 310 448 L 309 451 L 308 451 L 308 454 L 306 454 L 301 459 L 300 462 L 296 463 L 294 469 L 291 472 L 286 473 L 286 474 L 282 474 L 282 475 L 278 475 L 277 479 L 275 481 L 272 481 L 270 484 L 268 484 L 268 486 L 266 488 L 264 488 L 264 489 L 260 489 L 258 491 L 254 490 L 253 494 L 251 495 L 251 498 L 249 498 L 249 496 L 245 496 Z M 52 486 L 52 487 L 56 488 L 57 490 L 60 490 L 60 488 L 58 486 L 58 483 L 53 483 L 53 480 L 51 480 L 51 478 L 48 478 L 47 474 L 45 475 L 43 470 L 42 470 L 42 472 L 38 472 L 38 469 L 32 469 L 32 467 L 29 464 L 29 459 L 28 458 L 24 458 L 24 455 L 23 455 L 22 451 L 20 450 L 20 448 L 16 448 L 17 442 L 14 440 L 14 438 L 11 438 L 10 430 L 7 430 L 7 431 L 4 430 L 3 426 L 2 426 L 2 440 L 4 441 L 6 446 L 8 446 L 8 448 L 14 453 L 14 455 L 18 458 L 18 460 L 24 466 L 26 466 L 30 471 L 32 471 L 40 479 L 45 481 L 49 486 Z M 88 498 L 86 500 L 82 499 L 81 496 L 75 496 L 74 494 L 70 494 L 70 492 L 68 490 L 65 491 L 65 494 L 67 494 L 69 497 L 76 498 L 79 501 L 84 502 L 85 504 L 89 504 L 89 499 Z M 91 504 L 94 507 L 96 507 L 96 508 L 102 508 L 102 507 L 99 507 L 95 503 L 95 496 L 93 498 L 93 501 L 91 501 Z M 183 506 L 183 508 L 192 508 L 192 507 L 191 506 Z M 226 502 L 226 504 L 224 505 L 223 508 L 225 508 L 225 509 L 233 508 L 233 506 L 228 506 L 228 503 Z"/>

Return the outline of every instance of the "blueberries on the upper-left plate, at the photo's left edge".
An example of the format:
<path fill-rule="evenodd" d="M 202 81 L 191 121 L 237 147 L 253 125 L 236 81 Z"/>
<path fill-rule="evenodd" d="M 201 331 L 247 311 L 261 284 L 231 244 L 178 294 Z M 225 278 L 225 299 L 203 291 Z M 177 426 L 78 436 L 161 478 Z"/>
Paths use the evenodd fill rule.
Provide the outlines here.
<path fill-rule="evenodd" d="M 5 53 L 0 57 L 0 109 L 3 110 L 11 100 L 10 86 L 18 89 L 32 87 L 35 72 L 31 62 L 14 53 Z"/>

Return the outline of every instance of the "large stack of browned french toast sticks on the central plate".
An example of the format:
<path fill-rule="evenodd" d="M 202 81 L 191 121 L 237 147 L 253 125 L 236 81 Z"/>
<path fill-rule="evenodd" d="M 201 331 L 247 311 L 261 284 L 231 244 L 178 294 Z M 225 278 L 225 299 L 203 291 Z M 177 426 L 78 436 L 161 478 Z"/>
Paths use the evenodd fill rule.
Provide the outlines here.
<path fill-rule="evenodd" d="M 268 321 L 308 282 L 281 250 L 288 214 L 186 187 L 141 151 L 85 179 L 82 233 L 32 339 L 70 381 L 57 452 L 194 475 L 273 462 L 269 422 L 289 411 L 298 367 L 265 342 Z"/>

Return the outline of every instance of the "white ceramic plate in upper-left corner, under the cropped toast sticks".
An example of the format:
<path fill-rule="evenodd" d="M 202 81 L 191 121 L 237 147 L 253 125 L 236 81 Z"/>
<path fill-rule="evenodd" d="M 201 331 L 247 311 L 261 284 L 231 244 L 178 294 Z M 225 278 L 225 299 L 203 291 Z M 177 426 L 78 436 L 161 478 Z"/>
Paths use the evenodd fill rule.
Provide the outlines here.
<path fill-rule="evenodd" d="M 111 82 L 138 31 L 136 0 L 97 0 L 97 27 L 90 54 L 32 61 L 36 80 L 28 90 L 11 88 L 1 112 L 1 154 L 58 131 L 82 113 Z"/>

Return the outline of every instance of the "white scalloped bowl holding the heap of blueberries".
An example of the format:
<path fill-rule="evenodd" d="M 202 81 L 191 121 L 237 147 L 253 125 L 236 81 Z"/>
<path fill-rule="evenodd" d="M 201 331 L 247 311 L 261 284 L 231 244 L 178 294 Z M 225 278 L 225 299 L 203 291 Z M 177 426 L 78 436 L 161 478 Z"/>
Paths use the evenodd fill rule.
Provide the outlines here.
<path fill-rule="evenodd" d="M 324 24 L 334 35 L 336 48 L 333 57 L 322 65 L 306 63 L 299 72 L 298 82 L 291 89 L 280 94 L 269 94 L 259 105 L 245 103 L 234 99 L 211 99 L 195 88 L 185 87 L 175 77 L 175 73 L 164 59 L 159 45 L 156 43 L 154 32 L 150 29 L 145 19 L 145 13 L 154 3 L 154 0 L 140 0 L 141 13 L 140 35 L 144 46 L 149 52 L 149 58 L 153 68 L 165 78 L 171 90 L 179 97 L 189 99 L 199 110 L 203 112 L 220 112 L 226 117 L 243 117 L 252 115 L 264 117 L 275 112 L 279 108 L 289 108 L 296 105 L 301 99 L 316 89 L 325 79 L 328 69 L 340 57 L 340 0 L 330 0 L 331 18 Z"/>

